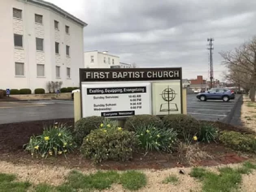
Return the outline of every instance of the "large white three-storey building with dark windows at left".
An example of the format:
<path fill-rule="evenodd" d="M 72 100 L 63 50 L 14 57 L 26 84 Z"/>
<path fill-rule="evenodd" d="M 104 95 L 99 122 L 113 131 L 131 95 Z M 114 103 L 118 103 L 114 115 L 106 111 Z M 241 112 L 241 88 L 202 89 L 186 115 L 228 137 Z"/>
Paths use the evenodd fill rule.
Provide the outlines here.
<path fill-rule="evenodd" d="M 79 85 L 87 23 L 43 0 L 1 0 L 0 89 Z"/>

